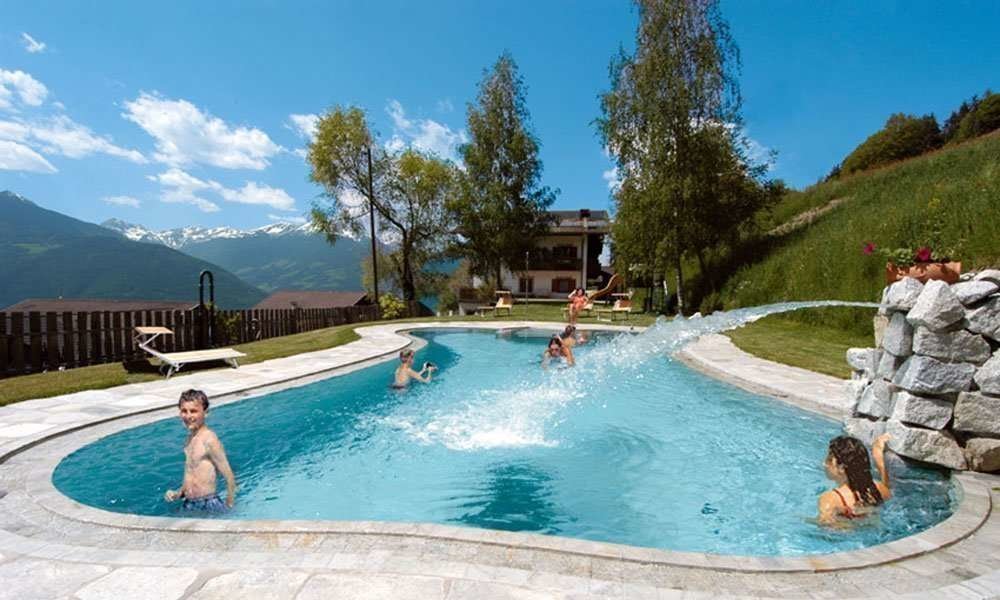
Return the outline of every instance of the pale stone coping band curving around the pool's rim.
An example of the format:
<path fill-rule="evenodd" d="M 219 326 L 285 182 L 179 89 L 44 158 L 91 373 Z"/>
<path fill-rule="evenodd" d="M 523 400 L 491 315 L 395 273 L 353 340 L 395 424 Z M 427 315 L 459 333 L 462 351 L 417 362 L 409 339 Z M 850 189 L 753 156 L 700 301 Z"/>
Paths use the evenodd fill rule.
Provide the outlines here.
<path fill-rule="evenodd" d="M 369 356 L 357 361 L 344 363 L 337 367 L 318 370 L 309 375 L 302 375 L 288 378 L 282 381 L 252 386 L 241 390 L 235 390 L 221 395 L 217 398 L 220 404 L 238 402 L 262 394 L 277 391 L 273 388 L 287 389 L 308 385 L 312 381 L 336 377 L 351 371 L 377 364 L 389 360 L 400 347 L 407 347 L 414 343 L 415 338 L 409 335 L 413 331 L 428 329 L 466 329 L 466 330 L 497 330 L 512 329 L 518 327 L 538 327 L 542 329 L 559 329 L 562 324 L 546 322 L 430 322 L 430 323 L 397 323 L 370 325 L 359 327 L 359 336 L 364 338 L 364 330 L 377 328 L 391 328 L 391 332 L 403 338 L 406 343 L 402 346 L 393 347 L 390 350 Z M 608 331 L 635 331 L 637 328 L 626 327 L 605 327 L 590 326 L 585 327 L 590 330 Z M 352 342 L 353 343 L 353 342 Z M 347 344 L 349 345 L 349 344 Z M 345 345 L 346 346 L 346 345 Z M 343 347 L 343 346 L 341 346 Z M 759 393 L 759 392 L 758 392 Z M 784 398 L 775 398 L 784 401 Z M 56 438 L 70 438 L 73 434 L 78 434 L 87 429 L 96 429 L 101 426 L 115 427 L 115 431 L 130 429 L 142 423 L 133 423 L 134 420 L 152 422 L 168 418 L 159 415 L 165 410 L 173 408 L 174 404 L 165 406 L 133 410 L 123 414 L 109 417 L 103 420 L 92 421 L 76 427 L 67 428 L 59 432 L 49 432 L 44 436 L 36 436 L 38 439 L 27 441 L 17 448 L 7 452 L 0 457 L 0 463 L 8 461 L 13 456 L 30 452 L 38 446 Z M 807 409 L 805 406 L 800 408 Z M 815 410 L 810 412 L 817 412 Z M 102 433 L 99 437 L 113 432 Z M 86 436 L 83 436 L 86 437 Z M 67 440 L 64 439 L 63 442 Z M 76 448 L 82 447 L 90 441 L 80 441 Z M 76 501 L 62 494 L 52 482 L 54 469 L 76 448 L 62 452 L 55 457 L 41 463 L 35 463 L 29 472 L 25 482 L 27 496 L 38 506 L 63 518 L 79 521 L 91 525 L 109 527 L 124 530 L 142 531 L 189 531 L 198 533 L 265 533 L 265 534 L 351 534 L 370 536 L 391 536 L 391 537 L 412 537 L 426 540 L 447 541 L 454 543 L 478 543 L 519 550 L 540 550 L 549 552 L 560 552 L 577 556 L 592 558 L 619 560 L 623 562 L 655 564 L 672 567 L 705 568 L 720 571 L 734 571 L 745 573 L 789 573 L 789 572 L 830 572 L 847 569 L 858 569 L 872 567 L 900 560 L 914 558 L 924 554 L 940 550 L 955 544 L 966 537 L 972 535 L 989 518 L 992 511 L 989 484 L 976 481 L 970 475 L 964 473 L 953 474 L 953 481 L 959 491 L 960 499 L 955 512 L 933 527 L 918 534 L 907 536 L 899 540 L 870 546 L 858 550 L 837 552 L 832 554 L 804 555 L 796 557 L 772 557 L 772 556 L 741 556 L 741 555 L 718 555 L 700 552 L 684 552 L 661 550 L 657 548 L 645 548 L 617 544 L 612 542 L 598 542 L 569 538 L 562 536 L 543 535 L 507 532 L 491 529 L 467 528 L 458 526 L 439 525 L 435 523 L 402 523 L 388 521 L 217 521 L 210 519 L 177 519 L 171 517 L 148 517 L 139 515 L 127 515 L 113 513 L 102 509 L 79 504 Z"/>

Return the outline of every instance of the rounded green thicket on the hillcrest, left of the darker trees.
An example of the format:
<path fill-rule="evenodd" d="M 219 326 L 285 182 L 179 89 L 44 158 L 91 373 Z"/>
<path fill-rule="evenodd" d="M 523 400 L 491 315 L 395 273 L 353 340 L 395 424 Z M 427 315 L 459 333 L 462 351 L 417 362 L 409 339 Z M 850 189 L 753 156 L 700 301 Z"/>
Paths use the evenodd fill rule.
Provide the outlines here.
<path fill-rule="evenodd" d="M 848 154 L 840 170 L 844 175 L 866 171 L 919 156 L 939 148 L 941 144 L 941 131 L 933 115 L 916 117 L 897 113 L 889 117 L 885 127 Z"/>

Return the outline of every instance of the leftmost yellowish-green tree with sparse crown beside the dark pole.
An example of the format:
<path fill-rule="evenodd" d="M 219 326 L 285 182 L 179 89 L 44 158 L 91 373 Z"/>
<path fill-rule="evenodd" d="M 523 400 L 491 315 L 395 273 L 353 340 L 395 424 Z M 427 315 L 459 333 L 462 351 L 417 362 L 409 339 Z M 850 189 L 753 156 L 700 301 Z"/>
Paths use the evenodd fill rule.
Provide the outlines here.
<path fill-rule="evenodd" d="M 307 159 L 310 178 L 325 190 L 325 202 L 313 206 L 313 224 L 334 244 L 344 232 L 363 232 L 373 208 L 391 248 L 380 250 L 379 264 L 391 266 L 404 300 L 416 299 L 424 265 L 443 251 L 452 230 L 445 207 L 455 168 L 416 150 L 386 150 L 356 107 L 335 107 L 319 119 Z"/>

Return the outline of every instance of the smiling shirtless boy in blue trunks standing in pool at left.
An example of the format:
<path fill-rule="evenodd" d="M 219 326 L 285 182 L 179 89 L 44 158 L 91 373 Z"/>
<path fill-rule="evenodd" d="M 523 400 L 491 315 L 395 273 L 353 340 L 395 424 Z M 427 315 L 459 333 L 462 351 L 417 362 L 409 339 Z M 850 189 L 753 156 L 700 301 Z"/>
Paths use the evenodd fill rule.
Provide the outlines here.
<path fill-rule="evenodd" d="M 184 510 L 225 512 L 233 507 L 236 478 L 229 468 L 226 451 L 215 432 L 205 425 L 208 396 L 200 390 L 188 390 L 177 401 L 181 422 L 188 430 L 184 444 L 184 483 L 180 489 L 167 490 L 167 502 L 183 500 Z M 226 479 L 226 501 L 223 504 L 215 491 L 219 474 Z"/>

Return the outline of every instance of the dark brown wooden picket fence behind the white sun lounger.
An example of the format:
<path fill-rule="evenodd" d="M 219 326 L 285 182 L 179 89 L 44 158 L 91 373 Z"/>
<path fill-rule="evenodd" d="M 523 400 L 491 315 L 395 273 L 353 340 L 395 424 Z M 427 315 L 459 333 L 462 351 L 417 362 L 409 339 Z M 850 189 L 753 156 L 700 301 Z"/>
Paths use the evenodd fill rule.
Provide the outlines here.
<path fill-rule="evenodd" d="M 429 311 L 419 302 L 409 316 Z M 291 335 L 379 319 L 377 306 L 340 308 L 136 312 L 0 312 L 0 378 L 146 357 L 133 341 L 133 328 L 157 325 L 173 330 L 154 346 L 182 352 Z M 212 333 L 214 332 L 214 333 Z M 210 339 L 211 338 L 211 339 Z"/>

